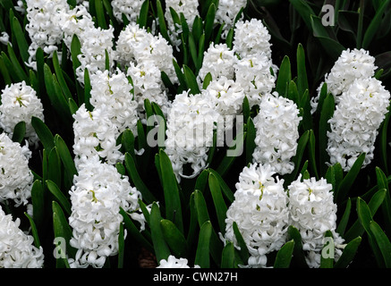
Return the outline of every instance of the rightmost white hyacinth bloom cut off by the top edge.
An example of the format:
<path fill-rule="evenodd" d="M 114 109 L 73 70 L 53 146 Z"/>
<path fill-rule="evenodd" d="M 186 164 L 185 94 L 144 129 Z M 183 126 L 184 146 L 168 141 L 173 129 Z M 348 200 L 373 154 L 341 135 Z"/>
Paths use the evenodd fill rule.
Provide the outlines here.
<path fill-rule="evenodd" d="M 237 14 L 245 8 L 247 0 L 220 0 L 216 11 L 215 21 L 224 24 L 222 37 L 225 38 L 228 30 L 233 28 Z M 239 20 L 242 19 L 242 15 Z"/>

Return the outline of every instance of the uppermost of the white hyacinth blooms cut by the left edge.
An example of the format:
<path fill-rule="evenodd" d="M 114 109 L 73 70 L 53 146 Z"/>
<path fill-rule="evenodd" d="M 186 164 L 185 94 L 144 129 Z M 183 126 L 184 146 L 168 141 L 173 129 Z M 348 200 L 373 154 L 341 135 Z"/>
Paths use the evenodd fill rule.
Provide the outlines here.
<path fill-rule="evenodd" d="M 19 122 L 26 123 L 25 136 L 30 145 L 38 145 L 38 135 L 31 125 L 31 118 L 44 121 L 43 105 L 36 91 L 23 80 L 6 86 L 1 93 L 0 127 L 13 136 L 13 129 Z"/>

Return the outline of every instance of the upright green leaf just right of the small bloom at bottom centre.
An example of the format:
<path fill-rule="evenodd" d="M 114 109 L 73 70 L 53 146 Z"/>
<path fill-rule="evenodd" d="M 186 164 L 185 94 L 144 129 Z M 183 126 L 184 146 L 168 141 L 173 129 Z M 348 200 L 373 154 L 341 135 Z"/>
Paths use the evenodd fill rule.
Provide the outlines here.
<path fill-rule="evenodd" d="M 212 234 L 212 224 L 207 221 L 200 227 L 199 243 L 197 246 L 194 265 L 200 265 L 201 268 L 209 268 L 209 241 Z"/>

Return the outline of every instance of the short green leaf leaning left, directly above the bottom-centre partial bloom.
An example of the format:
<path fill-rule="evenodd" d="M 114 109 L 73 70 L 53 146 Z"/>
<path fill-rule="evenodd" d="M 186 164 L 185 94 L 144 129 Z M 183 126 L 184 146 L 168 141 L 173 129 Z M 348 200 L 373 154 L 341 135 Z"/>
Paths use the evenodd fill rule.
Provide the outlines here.
<path fill-rule="evenodd" d="M 184 239 L 183 233 L 169 220 L 162 219 L 160 225 L 166 244 L 173 252 L 174 257 L 187 257 L 187 241 Z"/>

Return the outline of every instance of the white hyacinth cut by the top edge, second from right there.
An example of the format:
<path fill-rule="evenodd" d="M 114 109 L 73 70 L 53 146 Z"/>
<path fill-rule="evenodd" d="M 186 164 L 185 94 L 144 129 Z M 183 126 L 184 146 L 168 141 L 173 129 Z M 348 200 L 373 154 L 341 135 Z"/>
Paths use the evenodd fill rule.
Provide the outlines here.
<path fill-rule="evenodd" d="M 174 9 L 174 11 L 181 17 L 181 13 L 183 13 L 183 17 L 186 20 L 189 29 L 191 29 L 194 19 L 197 16 L 200 16 L 198 11 L 199 1 L 197 0 L 166 0 L 166 12 L 165 19 L 167 22 L 167 28 L 170 33 L 170 39 L 173 42 L 174 46 L 181 45 L 182 41 L 178 35 L 182 32 L 182 26 L 174 23 L 173 17 L 171 15 L 170 8 Z"/>

